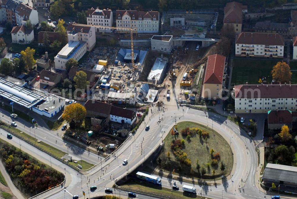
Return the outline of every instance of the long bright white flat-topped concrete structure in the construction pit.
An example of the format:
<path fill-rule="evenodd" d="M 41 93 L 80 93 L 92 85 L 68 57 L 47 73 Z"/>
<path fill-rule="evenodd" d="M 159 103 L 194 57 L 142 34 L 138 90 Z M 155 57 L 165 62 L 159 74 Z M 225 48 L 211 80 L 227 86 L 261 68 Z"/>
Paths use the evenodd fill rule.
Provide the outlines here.
<path fill-rule="evenodd" d="M 148 76 L 148 82 L 154 84 L 162 83 L 164 76 L 166 74 L 167 59 L 156 58 L 154 65 L 151 69 L 151 72 Z"/>

